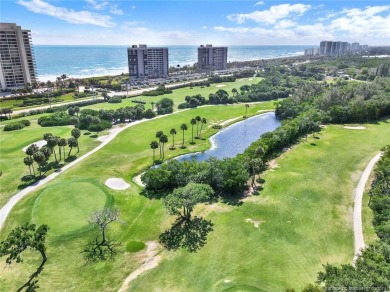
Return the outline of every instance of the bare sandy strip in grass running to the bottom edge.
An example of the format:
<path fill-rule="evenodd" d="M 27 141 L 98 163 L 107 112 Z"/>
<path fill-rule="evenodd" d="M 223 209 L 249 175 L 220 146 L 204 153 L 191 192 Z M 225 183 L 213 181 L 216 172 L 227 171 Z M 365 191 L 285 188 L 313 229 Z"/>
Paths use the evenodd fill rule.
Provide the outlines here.
<path fill-rule="evenodd" d="M 147 244 L 147 250 L 144 252 L 144 256 L 146 256 L 143 264 L 139 266 L 135 271 L 133 271 L 123 282 L 122 287 L 119 289 L 119 292 L 127 291 L 129 284 L 138 276 L 146 272 L 147 270 L 151 270 L 158 266 L 161 261 L 161 256 L 157 255 L 159 252 L 159 244 L 155 241 L 149 241 Z"/>

